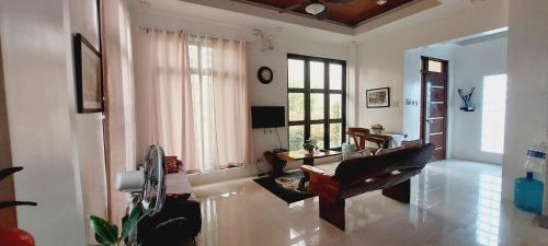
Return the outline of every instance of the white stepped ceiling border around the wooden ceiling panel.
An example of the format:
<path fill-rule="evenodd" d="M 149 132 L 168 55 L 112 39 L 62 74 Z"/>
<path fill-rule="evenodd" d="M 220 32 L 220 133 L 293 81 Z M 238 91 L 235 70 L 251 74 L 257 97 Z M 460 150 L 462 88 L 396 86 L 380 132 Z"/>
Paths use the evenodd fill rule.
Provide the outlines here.
<path fill-rule="evenodd" d="M 383 26 L 385 30 L 389 26 L 397 27 L 416 22 L 424 22 L 432 19 L 431 15 L 445 15 L 447 12 L 459 11 L 460 7 L 467 5 L 465 0 L 388 0 L 384 7 L 376 7 L 376 0 L 354 0 L 350 7 L 354 4 L 372 5 L 369 11 L 361 11 L 357 8 L 344 5 L 329 4 L 332 13 L 331 19 L 335 20 L 336 15 L 347 19 L 347 23 L 357 23 L 354 25 L 346 22 L 322 20 L 319 21 L 310 14 L 302 14 L 296 11 L 279 13 L 281 8 L 293 2 L 307 0 L 129 0 L 134 8 L 141 11 L 157 11 L 158 13 L 170 13 L 181 17 L 199 17 L 207 21 L 221 22 L 236 26 L 271 26 L 275 30 L 283 27 L 284 32 L 294 32 L 315 36 L 322 40 L 333 37 L 334 42 L 353 39 L 361 34 L 368 33 L 373 30 L 378 30 Z M 324 0 L 321 0 L 324 1 Z M 391 4 L 398 3 L 398 7 Z M 407 3 L 401 3 L 406 1 Z M 493 0 L 499 1 L 499 0 Z M 266 3 L 282 2 L 284 5 L 275 7 Z M 285 3 L 284 3 L 285 2 Z M 376 8 L 376 9 L 375 9 Z M 356 10 L 354 10 L 356 9 Z M 383 11 L 376 12 L 376 11 Z M 346 12 L 347 11 L 347 12 Z M 352 19 L 347 13 L 362 13 L 359 15 L 365 21 Z M 421 13 L 421 14 L 418 14 Z M 254 16 L 254 17 L 252 17 Z M 399 24 L 398 24 L 399 23 Z M 312 35 L 313 34 L 313 35 Z"/>

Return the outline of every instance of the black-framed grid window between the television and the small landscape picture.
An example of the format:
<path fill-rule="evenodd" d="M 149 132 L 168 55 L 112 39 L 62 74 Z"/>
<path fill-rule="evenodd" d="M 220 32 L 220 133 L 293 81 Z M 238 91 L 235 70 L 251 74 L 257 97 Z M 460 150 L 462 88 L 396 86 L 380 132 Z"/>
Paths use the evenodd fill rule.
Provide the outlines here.
<path fill-rule="evenodd" d="M 346 129 L 346 62 L 287 55 L 289 150 L 302 149 L 306 139 L 320 149 L 340 149 Z"/>

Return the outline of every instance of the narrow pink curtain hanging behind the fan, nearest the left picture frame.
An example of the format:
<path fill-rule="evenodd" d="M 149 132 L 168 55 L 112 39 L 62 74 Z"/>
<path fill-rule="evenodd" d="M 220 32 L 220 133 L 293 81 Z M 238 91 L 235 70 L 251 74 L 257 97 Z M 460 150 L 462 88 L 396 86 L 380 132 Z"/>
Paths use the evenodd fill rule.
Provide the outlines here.
<path fill-rule="evenodd" d="M 126 214 L 126 194 L 114 188 L 116 174 L 135 169 L 135 99 L 129 11 L 126 0 L 107 0 L 103 4 L 103 59 L 106 59 L 107 110 L 105 132 L 110 175 L 110 219 L 119 224 Z"/>

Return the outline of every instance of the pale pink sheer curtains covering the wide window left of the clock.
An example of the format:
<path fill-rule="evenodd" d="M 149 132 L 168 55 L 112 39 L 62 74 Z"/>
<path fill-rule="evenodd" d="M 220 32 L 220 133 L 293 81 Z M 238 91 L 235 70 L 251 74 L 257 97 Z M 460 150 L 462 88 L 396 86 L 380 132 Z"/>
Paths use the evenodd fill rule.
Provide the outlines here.
<path fill-rule="evenodd" d="M 246 43 L 149 32 L 152 141 L 189 172 L 250 160 Z"/>

